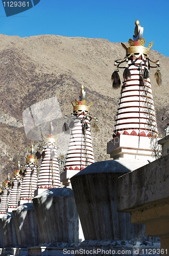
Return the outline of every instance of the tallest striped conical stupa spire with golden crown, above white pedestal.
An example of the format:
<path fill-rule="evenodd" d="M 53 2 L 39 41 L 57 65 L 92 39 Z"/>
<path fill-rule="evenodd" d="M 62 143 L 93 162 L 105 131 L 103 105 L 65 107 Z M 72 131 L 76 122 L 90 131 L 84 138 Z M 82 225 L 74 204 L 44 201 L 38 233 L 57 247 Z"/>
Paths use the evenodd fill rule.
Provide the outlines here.
<path fill-rule="evenodd" d="M 157 124 L 148 63 L 151 46 L 143 46 L 143 28 L 138 20 L 135 25 L 134 40 L 129 39 L 130 47 L 126 48 L 128 67 L 125 71 L 127 70 L 129 75 L 124 75 L 123 78 L 114 133 L 139 136 L 151 136 L 153 133 L 154 136 L 154 133 L 157 134 Z"/>

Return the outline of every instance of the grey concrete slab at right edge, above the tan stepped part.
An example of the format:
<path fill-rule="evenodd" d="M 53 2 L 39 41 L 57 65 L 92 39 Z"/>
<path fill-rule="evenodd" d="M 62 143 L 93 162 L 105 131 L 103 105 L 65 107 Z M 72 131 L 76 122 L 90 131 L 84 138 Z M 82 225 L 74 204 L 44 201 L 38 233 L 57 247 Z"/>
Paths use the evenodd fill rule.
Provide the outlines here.
<path fill-rule="evenodd" d="M 118 211 L 131 212 L 144 206 L 167 203 L 169 155 L 118 179 Z"/>

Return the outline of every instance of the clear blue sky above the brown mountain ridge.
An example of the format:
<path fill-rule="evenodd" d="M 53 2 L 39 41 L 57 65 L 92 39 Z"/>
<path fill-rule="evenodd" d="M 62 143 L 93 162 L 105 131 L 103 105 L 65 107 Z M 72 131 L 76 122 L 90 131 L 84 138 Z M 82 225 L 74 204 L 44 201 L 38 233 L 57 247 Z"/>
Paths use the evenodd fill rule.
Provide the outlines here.
<path fill-rule="evenodd" d="M 153 49 L 168 56 L 168 13 L 168 0 L 41 0 L 30 10 L 6 17 L 1 1 L 0 33 L 21 37 L 55 34 L 126 42 L 132 38 L 134 22 L 138 19 L 144 27 L 145 46 L 153 40 Z"/>

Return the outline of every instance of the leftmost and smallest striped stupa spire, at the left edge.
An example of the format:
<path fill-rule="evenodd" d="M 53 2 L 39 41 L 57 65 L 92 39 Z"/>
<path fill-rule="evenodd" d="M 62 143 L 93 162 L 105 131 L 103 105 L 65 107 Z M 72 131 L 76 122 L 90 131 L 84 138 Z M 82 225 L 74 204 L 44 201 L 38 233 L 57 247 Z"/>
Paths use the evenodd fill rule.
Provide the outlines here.
<path fill-rule="evenodd" d="M 7 213 L 8 209 L 8 202 L 10 198 L 11 188 L 8 186 L 9 180 L 4 181 L 4 194 L 1 198 L 1 205 L 0 205 L 0 215 L 4 215 Z"/>

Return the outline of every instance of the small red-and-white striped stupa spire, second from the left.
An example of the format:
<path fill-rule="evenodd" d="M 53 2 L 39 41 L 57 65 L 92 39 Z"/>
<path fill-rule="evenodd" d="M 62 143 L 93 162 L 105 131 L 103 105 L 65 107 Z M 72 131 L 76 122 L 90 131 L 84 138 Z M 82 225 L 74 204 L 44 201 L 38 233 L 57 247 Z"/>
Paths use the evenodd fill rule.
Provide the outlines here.
<path fill-rule="evenodd" d="M 20 170 L 15 170 L 13 182 L 11 183 L 11 193 L 8 203 L 8 212 L 11 212 L 14 208 L 18 207 L 18 202 L 20 200 L 20 193 L 22 188 L 22 180 L 23 178 L 19 174 Z"/>

